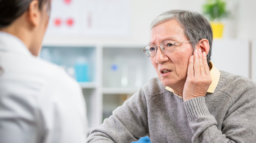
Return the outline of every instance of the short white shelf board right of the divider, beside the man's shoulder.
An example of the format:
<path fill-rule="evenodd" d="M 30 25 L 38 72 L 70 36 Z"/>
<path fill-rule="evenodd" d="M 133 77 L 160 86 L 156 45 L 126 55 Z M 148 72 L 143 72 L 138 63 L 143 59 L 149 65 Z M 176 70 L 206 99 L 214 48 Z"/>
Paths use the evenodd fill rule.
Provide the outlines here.
<path fill-rule="evenodd" d="M 103 94 L 134 94 L 138 88 L 103 88 Z"/>

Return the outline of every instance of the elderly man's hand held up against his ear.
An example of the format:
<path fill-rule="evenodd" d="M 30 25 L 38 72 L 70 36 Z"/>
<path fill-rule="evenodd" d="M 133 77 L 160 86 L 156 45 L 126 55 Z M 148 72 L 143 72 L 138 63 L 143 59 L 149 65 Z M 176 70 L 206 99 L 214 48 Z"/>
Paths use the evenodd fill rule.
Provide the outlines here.
<path fill-rule="evenodd" d="M 183 89 L 183 101 L 205 96 L 212 83 L 205 52 L 195 50 L 188 61 L 187 79 Z"/>

